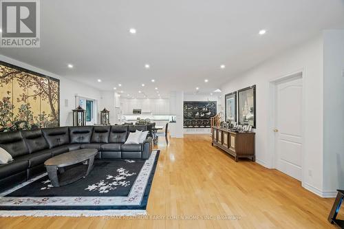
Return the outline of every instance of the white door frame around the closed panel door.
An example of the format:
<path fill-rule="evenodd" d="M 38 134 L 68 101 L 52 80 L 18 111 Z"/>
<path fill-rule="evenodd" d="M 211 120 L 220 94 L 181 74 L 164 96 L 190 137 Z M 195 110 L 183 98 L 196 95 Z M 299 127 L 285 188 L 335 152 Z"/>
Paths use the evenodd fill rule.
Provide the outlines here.
<path fill-rule="evenodd" d="M 305 71 L 299 70 L 297 72 L 294 72 L 292 74 L 287 74 L 284 76 L 281 76 L 279 78 L 275 78 L 270 80 L 269 86 L 270 86 L 270 121 L 268 122 L 268 142 L 269 142 L 269 151 L 271 156 L 271 168 L 277 168 L 277 151 L 276 151 L 276 139 L 275 139 L 275 132 L 272 130 L 275 128 L 275 111 L 276 111 L 276 89 L 277 85 L 280 83 L 288 82 L 290 80 L 301 78 L 302 80 L 302 110 L 301 110 L 301 135 L 302 135 L 302 146 L 301 146 L 301 184 L 305 181 Z"/>

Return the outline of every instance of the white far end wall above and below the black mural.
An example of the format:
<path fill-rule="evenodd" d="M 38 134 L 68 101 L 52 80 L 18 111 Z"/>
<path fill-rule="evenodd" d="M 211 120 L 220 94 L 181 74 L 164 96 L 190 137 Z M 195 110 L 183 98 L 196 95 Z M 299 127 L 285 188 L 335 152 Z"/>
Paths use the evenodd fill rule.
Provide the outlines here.
<path fill-rule="evenodd" d="M 184 101 L 216 101 L 217 103 L 217 113 L 223 111 L 222 100 L 219 98 L 222 95 L 206 95 L 206 94 L 184 94 Z M 210 134 L 210 128 L 184 128 L 185 134 Z"/>

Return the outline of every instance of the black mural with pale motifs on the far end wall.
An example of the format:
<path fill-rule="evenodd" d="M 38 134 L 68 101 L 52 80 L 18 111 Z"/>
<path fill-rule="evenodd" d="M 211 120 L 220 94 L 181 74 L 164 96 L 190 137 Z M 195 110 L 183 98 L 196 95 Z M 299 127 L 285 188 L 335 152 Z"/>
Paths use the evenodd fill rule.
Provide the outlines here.
<path fill-rule="evenodd" d="M 209 128 L 216 115 L 216 101 L 184 101 L 184 128 Z"/>

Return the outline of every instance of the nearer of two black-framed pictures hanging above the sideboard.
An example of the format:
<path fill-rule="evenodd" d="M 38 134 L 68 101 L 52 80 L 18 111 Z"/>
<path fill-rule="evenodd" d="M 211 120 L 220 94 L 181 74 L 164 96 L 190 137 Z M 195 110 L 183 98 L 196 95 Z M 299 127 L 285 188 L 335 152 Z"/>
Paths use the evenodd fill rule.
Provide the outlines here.
<path fill-rule="evenodd" d="M 256 128 L 256 85 L 241 89 L 237 94 L 239 124 Z"/>

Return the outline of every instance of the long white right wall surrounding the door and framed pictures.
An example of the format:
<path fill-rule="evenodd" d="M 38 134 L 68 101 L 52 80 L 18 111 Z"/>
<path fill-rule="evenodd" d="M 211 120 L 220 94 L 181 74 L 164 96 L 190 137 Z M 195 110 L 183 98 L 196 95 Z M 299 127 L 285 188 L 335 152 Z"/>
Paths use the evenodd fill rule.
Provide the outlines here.
<path fill-rule="evenodd" d="M 222 87 L 224 95 L 244 87 L 257 85 L 257 162 L 273 166 L 269 148 L 270 81 L 288 74 L 303 72 L 304 104 L 304 166 L 305 188 L 323 192 L 323 39 L 318 36 L 288 52 L 275 56 L 244 74 L 239 74 Z"/>

